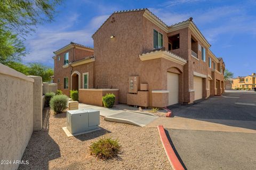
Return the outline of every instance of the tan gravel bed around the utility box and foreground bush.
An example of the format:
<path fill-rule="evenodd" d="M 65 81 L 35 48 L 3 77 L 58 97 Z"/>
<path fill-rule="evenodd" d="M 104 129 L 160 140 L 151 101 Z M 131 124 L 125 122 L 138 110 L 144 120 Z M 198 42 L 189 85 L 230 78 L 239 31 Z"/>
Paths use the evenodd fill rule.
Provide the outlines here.
<path fill-rule="evenodd" d="M 54 115 L 45 108 L 43 130 L 33 132 L 19 169 L 171 169 L 156 128 L 140 128 L 100 118 L 103 130 L 67 137 L 66 113 Z M 108 133 L 108 134 L 107 134 Z M 117 138 L 122 153 L 111 160 L 90 156 L 91 142 L 103 135 Z"/>

